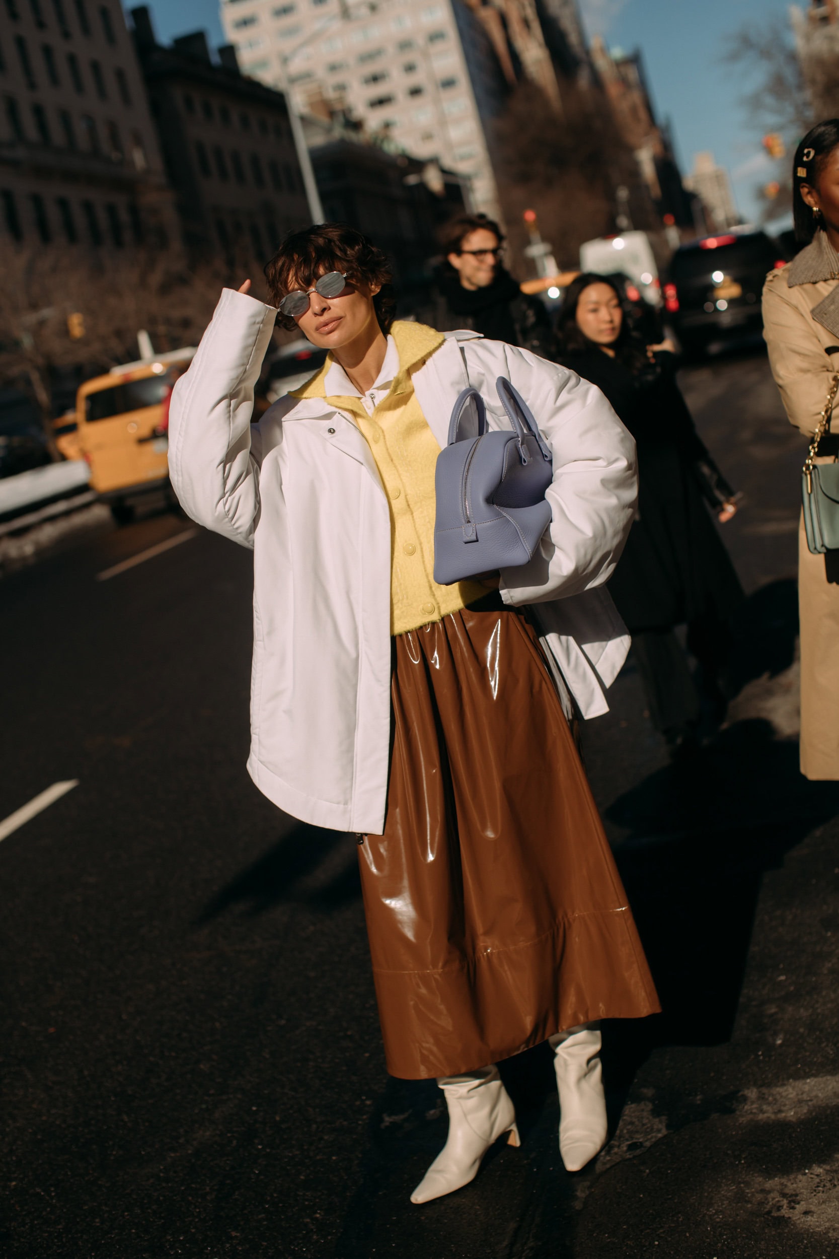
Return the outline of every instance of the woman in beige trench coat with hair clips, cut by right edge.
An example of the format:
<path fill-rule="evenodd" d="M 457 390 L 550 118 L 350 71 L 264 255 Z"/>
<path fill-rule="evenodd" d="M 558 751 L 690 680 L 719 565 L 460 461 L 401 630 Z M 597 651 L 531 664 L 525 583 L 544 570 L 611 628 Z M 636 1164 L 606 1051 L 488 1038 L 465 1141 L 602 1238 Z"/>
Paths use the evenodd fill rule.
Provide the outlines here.
<path fill-rule="evenodd" d="M 790 423 L 813 438 L 839 373 L 839 118 L 808 131 L 792 159 L 796 239 L 806 248 L 764 286 L 764 336 Z M 830 412 L 828 412 L 830 414 Z M 816 462 L 839 454 L 831 419 Z M 799 529 L 801 773 L 839 778 L 839 564 Z"/>

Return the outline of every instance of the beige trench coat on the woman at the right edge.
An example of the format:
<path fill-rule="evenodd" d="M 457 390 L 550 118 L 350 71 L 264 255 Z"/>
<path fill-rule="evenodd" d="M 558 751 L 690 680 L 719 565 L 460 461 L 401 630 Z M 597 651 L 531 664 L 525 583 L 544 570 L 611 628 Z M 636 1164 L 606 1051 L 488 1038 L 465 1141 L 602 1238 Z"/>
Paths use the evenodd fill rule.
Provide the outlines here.
<path fill-rule="evenodd" d="M 786 283 L 786 267 L 764 286 L 764 336 L 775 383 L 790 423 L 815 432 L 833 374 L 839 371 L 839 336 L 810 311 L 839 281 Z M 839 432 L 839 408 L 830 426 Z M 801 449 L 804 463 L 806 451 Z M 819 460 L 819 462 L 826 462 Z M 833 558 L 830 563 L 835 563 Z M 801 773 L 839 779 L 839 584 L 824 555 L 808 550 L 799 526 L 799 613 L 801 619 Z"/>

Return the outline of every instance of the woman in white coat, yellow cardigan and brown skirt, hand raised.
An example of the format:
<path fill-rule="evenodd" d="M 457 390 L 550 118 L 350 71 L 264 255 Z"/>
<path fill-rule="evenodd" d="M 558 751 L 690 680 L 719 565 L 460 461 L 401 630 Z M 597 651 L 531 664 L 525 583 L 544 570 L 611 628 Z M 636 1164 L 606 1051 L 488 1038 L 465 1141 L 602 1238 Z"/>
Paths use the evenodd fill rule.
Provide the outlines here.
<path fill-rule="evenodd" d="M 352 228 L 292 234 L 265 274 L 277 306 L 224 291 L 170 426 L 189 515 L 254 550 L 248 769 L 287 813 L 357 836 L 387 1069 L 436 1076 L 449 1109 L 413 1201 L 518 1143 L 494 1064 L 542 1040 L 576 1170 L 606 1138 L 599 1020 L 657 1000 L 525 608 L 576 703 L 603 710 L 625 655 L 601 584 L 631 519 L 631 438 L 555 364 L 391 322 L 386 259 Z M 277 307 L 330 353 L 252 426 Z M 530 565 L 439 585 L 436 456 L 467 384 L 509 428 L 501 375 L 551 446 L 553 520 Z"/>

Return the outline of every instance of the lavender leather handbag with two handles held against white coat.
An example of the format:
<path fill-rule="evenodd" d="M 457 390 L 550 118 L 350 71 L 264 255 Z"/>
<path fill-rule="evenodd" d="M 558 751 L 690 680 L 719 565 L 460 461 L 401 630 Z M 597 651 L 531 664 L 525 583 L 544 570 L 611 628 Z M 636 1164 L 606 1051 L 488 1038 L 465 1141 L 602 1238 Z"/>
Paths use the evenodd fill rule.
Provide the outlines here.
<path fill-rule="evenodd" d="M 469 387 L 458 395 L 448 446 L 436 457 L 434 580 L 440 585 L 526 564 L 551 522 L 545 499 L 553 476 L 550 447 L 509 380 L 498 376 L 496 388 L 512 433 L 487 429 L 484 400 Z"/>

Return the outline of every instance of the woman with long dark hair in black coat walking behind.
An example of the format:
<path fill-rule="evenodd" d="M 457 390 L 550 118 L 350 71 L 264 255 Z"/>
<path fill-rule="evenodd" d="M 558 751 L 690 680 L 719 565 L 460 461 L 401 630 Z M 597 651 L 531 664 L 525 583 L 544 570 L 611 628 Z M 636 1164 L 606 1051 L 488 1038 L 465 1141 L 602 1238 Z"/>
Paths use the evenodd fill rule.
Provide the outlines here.
<path fill-rule="evenodd" d="M 630 330 L 611 279 L 584 273 L 565 291 L 560 361 L 605 393 L 635 438 L 638 510 L 609 583 L 633 637 L 653 724 L 673 753 L 697 743 L 701 696 L 674 627 L 687 624 L 703 695 L 725 711 L 720 674 L 742 589 L 706 504 L 735 514 L 731 486 L 703 446 L 675 383 L 673 344 Z"/>

